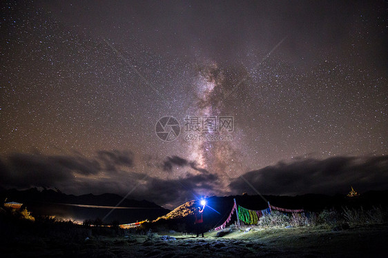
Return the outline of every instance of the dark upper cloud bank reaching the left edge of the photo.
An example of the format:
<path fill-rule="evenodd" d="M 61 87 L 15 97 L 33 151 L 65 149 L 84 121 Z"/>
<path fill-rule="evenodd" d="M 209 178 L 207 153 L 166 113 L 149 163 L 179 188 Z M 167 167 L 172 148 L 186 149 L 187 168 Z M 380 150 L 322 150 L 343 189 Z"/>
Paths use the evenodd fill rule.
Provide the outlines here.
<path fill-rule="evenodd" d="M 131 152 L 99 151 L 97 158 L 82 155 L 42 155 L 14 153 L 1 161 L 1 184 L 12 187 L 56 186 L 77 175 L 88 177 L 101 171 L 117 171 L 119 166 L 133 166 Z"/>

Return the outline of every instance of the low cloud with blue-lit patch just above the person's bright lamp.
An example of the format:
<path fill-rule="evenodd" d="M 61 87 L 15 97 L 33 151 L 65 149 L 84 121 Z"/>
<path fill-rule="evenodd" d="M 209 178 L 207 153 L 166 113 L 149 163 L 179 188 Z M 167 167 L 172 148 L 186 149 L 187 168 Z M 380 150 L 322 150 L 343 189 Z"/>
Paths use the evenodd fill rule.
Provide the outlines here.
<path fill-rule="evenodd" d="M 118 172 L 108 178 L 82 180 L 77 183 L 68 181 L 63 186 L 68 192 L 86 193 L 93 190 L 95 194 L 113 192 L 128 199 L 153 201 L 166 208 L 175 208 L 185 201 L 196 199 L 204 195 L 217 195 L 219 193 L 217 175 L 193 175 L 177 179 L 163 179 L 136 172 Z"/>

